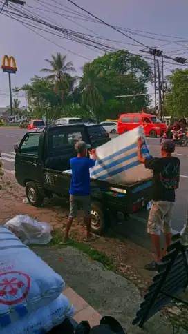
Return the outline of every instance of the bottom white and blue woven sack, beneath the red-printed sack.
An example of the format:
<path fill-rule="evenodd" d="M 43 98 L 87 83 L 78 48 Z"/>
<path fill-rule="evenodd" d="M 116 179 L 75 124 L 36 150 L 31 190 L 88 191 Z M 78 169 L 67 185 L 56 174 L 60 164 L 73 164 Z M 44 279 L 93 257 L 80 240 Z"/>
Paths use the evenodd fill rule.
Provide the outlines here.
<path fill-rule="evenodd" d="M 0 326 L 0 333 L 45 334 L 55 326 L 61 324 L 65 317 L 71 317 L 73 313 L 73 304 L 71 304 L 64 295 L 60 295 L 53 302 L 50 302 L 50 304 L 43 308 L 39 308 L 34 313 L 30 313 L 30 315 L 27 315 L 24 319 L 18 320 L 14 324 L 10 324 L 6 327 Z"/>

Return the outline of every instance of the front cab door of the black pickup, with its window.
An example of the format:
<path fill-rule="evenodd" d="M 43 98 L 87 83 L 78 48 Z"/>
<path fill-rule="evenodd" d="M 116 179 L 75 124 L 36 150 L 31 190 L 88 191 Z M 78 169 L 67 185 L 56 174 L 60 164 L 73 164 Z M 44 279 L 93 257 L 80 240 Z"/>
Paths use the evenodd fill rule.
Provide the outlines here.
<path fill-rule="evenodd" d="M 19 184 L 26 180 L 41 184 L 41 160 L 39 160 L 40 133 L 28 133 L 23 137 L 15 157 L 15 173 Z"/>

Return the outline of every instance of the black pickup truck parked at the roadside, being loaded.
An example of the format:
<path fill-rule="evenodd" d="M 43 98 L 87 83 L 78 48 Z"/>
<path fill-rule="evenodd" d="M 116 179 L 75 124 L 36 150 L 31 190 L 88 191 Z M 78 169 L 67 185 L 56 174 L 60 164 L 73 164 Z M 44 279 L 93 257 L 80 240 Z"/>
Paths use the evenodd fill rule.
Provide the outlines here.
<path fill-rule="evenodd" d="M 19 146 L 15 146 L 15 177 L 26 187 L 31 205 L 41 206 L 44 198 L 53 194 L 63 198 L 69 196 L 69 161 L 76 156 L 74 146 L 80 139 L 92 147 L 88 127 L 83 124 L 47 126 L 27 132 Z M 93 232 L 101 234 L 112 218 L 118 222 L 124 215 L 149 207 L 150 188 L 151 180 L 124 186 L 91 178 Z"/>

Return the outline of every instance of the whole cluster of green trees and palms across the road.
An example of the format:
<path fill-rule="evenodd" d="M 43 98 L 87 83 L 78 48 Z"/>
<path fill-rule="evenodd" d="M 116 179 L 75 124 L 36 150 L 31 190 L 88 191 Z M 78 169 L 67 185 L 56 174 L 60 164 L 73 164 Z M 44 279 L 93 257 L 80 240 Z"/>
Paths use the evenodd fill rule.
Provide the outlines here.
<path fill-rule="evenodd" d="M 35 117 L 47 119 L 62 116 L 117 119 L 120 112 L 140 112 L 150 104 L 149 95 L 118 99 L 117 95 L 147 94 L 152 80 L 151 67 L 142 58 L 126 50 L 105 54 L 85 63 L 82 77 L 71 75 L 73 63 L 57 53 L 46 59 L 50 68 L 46 77 L 30 79 L 23 85 L 27 91 L 28 106 Z"/>

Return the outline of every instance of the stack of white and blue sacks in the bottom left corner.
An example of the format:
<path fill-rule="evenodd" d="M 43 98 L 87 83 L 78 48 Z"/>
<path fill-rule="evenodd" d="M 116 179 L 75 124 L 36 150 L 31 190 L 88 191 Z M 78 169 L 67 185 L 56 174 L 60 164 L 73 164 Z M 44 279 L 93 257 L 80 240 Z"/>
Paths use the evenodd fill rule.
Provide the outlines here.
<path fill-rule="evenodd" d="M 48 333 L 74 313 L 64 280 L 0 226 L 0 333 Z"/>

